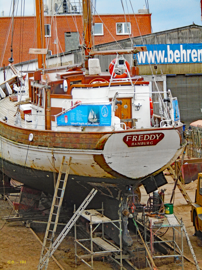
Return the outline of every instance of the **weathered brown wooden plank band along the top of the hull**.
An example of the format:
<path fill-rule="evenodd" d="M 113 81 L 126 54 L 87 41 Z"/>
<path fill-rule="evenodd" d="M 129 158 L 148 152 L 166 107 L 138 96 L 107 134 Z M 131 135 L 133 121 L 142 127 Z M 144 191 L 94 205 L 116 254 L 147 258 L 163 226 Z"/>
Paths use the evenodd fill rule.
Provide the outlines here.
<path fill-rule="evenodd" d="M 0 120 L 0 130 L 2 137 L 6 139 L 23 143 L 25 145 L 29 144 L 29 134 L 33 133 L 34 140 L 31 142 L 33 146 L 44 146 L 44 147 L 62 147 L 67 149 L 103 149 L 105 141 L 113 133 L 137 133 L 145 131 L 159 131 L 159 130 L 172 130 L 175 127 L 165 127 L 165 128 L 151 128 L 151 129 L 128 129 L 121 131 L 54 131 L 54 130 L 32 130 L 24 129 L 22 127 L 16 127 L 9 123 L 5 123 Z M 65 136 L 64 136 L 65 135 Z M 182 139 L 180 137 L 180 144 L 182 144 Z M 90 143 L 89 143 L 90 141 Z"/>

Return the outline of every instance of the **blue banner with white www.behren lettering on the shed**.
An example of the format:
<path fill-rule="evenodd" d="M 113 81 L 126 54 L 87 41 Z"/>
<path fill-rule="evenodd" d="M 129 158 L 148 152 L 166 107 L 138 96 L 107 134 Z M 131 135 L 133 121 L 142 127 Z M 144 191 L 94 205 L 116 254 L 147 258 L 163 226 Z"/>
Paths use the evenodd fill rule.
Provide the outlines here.
<path fill-rule="evenodd" d="M 201 63 L 202 43 L 145 45 L 147 52 L 139 52 L 139 65 Z"/>

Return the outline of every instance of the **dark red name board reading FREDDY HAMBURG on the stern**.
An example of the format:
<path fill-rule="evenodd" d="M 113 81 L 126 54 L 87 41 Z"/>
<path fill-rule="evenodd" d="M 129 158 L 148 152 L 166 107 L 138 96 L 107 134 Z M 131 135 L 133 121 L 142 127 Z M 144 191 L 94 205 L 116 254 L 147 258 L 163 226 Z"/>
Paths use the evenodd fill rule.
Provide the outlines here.
<path fill-rule="evenodd" d="M 129 147 L 156 145 L 164 137 L 163 133 L 131 134 L 123 137 L 124 143 Z"/>

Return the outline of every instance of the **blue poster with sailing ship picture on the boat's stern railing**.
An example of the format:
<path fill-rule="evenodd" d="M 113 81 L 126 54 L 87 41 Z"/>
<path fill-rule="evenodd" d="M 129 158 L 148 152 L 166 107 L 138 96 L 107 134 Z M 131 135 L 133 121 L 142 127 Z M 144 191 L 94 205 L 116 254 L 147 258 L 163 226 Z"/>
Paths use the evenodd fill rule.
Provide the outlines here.
<path fill-rule="evenodd" d="M 57 117 L 58 126 L 111 126 L 112 105 L 85 105 Z"/>

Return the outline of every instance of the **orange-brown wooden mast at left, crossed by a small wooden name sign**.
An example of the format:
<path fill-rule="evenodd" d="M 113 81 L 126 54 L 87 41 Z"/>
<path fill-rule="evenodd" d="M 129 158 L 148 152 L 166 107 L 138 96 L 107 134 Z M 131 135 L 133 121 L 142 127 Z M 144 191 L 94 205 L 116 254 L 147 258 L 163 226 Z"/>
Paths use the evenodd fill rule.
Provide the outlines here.
<path fill-rule="evenodd" d="M 45 27 L 44 27 L 44 6 L 43 0 L 36 0 L 36 23 L 37 23 L 37 48 L 45 49 Z M 44 68 L 46 55 L 38 54 L 38 68 Z"/>

